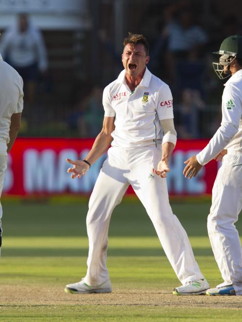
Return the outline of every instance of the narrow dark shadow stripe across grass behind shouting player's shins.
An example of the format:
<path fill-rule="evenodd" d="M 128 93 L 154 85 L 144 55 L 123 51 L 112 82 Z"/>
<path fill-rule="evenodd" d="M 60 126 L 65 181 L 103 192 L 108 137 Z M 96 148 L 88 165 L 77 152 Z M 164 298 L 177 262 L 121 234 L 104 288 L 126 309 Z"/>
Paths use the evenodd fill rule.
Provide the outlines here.
<path fill-rule="evenodd" d="M 211 248 L 193 248 L 195 256 L 213 255 Z M 87 256 L 88 249 L 77 248 L 6 248 L 1 250 L 2 257 L 60 257 L 60 256 Z M 165 256 L 163 249 L 157 248 L 110 248 L 108 256 Z"/>

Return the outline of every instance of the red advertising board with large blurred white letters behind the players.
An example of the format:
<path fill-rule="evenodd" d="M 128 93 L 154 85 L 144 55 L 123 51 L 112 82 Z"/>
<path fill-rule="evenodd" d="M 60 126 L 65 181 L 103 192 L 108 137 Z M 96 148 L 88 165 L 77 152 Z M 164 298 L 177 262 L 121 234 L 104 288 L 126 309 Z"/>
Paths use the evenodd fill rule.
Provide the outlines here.
<path fill-rule="evenodd" d="M 66 157 L 83 159 L 94 139 L 18 138 L 8 156 L 8 169 L 3 193 L 5 195 L 50 195 L 63 193 L 89 194 L 96 182 L 106 154 L 92 165 L 81 179 L 72 180 L 66 172 Z M 201 151 L 208 140 L 178 140 L 170 160 L 171 171 L 167 177 L 172 195 L 210 194 L 218 170 L 211 161 L 196 178 L 182 175 L 184 161 Z M 127 193 L 134 193 L 128 189 Z"/>

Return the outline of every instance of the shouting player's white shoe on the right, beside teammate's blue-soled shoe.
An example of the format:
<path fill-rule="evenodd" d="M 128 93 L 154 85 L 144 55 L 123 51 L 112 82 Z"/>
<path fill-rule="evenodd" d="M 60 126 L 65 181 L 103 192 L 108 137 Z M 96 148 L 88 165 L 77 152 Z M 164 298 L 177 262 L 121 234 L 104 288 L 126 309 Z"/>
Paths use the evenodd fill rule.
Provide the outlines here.
<path fill-rule="evenodd" d="M 187 282 L 185 285 L 174 288 L 174 295 L 200 295 L 206 294 L 209 284 L 206 279 Z"/>

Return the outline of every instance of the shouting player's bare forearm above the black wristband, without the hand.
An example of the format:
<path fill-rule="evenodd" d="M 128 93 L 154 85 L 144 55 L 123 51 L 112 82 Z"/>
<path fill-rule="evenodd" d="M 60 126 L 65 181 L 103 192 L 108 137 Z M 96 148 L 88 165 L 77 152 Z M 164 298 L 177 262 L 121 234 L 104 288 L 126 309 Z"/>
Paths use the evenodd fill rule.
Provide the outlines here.
<path fill-rule="evenodd" d="M 101 155 L 107 151 L 110 147 L 111 142 L 113 141 L 113 137 L 110 134 L 99 133 L 94 141 L 92 149 L 85 157 L 85 160 L 88 161 L 91 165 L 96 162 Z"/>

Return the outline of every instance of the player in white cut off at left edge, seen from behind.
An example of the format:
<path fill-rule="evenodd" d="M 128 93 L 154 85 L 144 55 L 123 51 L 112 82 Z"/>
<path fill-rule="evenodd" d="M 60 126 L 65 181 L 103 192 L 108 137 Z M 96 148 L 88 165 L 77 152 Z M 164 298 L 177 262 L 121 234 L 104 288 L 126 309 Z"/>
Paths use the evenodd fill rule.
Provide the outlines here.
<path fill-rule="evenodd" d="M 23 82 L 21 76 L 2 60 L 0 55 L 0 196 L 7 169 L 7 154 L 11 150 L 20 129 L 23 109 Z M 1 247 L 0 204 L 0 247 Z"/>

